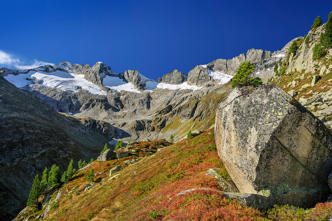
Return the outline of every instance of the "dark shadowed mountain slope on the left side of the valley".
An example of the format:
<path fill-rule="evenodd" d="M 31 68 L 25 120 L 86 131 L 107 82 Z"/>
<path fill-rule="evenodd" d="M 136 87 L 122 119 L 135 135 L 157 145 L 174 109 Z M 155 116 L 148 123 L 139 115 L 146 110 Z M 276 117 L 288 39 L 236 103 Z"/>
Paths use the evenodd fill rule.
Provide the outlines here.
<path fill-rule="evenodd" d="M 45 166 L 67 166 L 71 158 L 96 158 L 118 130 L 106 122 L 78 119 L 0 77 L 0 216 L 25 206 L 35 174 Z"/>

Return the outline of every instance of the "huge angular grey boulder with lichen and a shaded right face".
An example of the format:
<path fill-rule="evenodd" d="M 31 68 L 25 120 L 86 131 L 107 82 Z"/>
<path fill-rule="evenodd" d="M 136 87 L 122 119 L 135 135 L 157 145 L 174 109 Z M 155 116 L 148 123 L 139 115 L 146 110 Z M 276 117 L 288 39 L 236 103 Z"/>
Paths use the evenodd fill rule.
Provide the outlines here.
<path fill-rule="evenodd" d="M 236 88 L 218 105 L 215 125 L 218 154 L 242 193 L 303 207 L 325 200 L 331 132 L 281 88 Z"/>

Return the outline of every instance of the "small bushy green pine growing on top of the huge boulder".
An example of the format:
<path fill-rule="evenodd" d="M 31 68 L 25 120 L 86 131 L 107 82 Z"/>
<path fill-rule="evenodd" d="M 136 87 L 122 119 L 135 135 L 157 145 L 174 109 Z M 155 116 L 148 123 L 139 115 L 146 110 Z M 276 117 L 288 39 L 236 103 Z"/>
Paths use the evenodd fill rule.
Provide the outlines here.
<path fill-rule="evenodd" d="M 254 78 L 256 65 L 250 64 L 250 61 L 243 62 L 236 71 L 236 75 L 232 79 L 231 86 L 257 86 L 263 84 L 262 79 L 259 77 Z"/>

